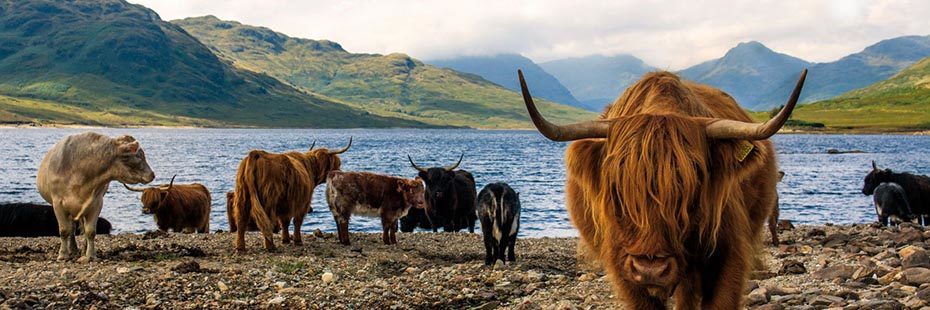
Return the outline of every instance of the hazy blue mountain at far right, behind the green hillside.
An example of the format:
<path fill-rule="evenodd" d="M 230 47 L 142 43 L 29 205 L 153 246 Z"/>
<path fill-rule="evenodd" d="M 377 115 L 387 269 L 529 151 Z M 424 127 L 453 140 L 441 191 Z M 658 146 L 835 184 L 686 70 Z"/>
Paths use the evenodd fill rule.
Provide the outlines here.
<path fill-rule="evenodd" d="M 883 40 L 863 51 L 834 62 L 818 63 L 810 68 L 801 102 L 833 98 L 863 88 L 895 75 L 901 69 L 930 56 L 930 36 L 905 36 Z M 794 81 L 786 81 L 772 96 L 761 102 L 768 107 L 783 104 Z"/>

